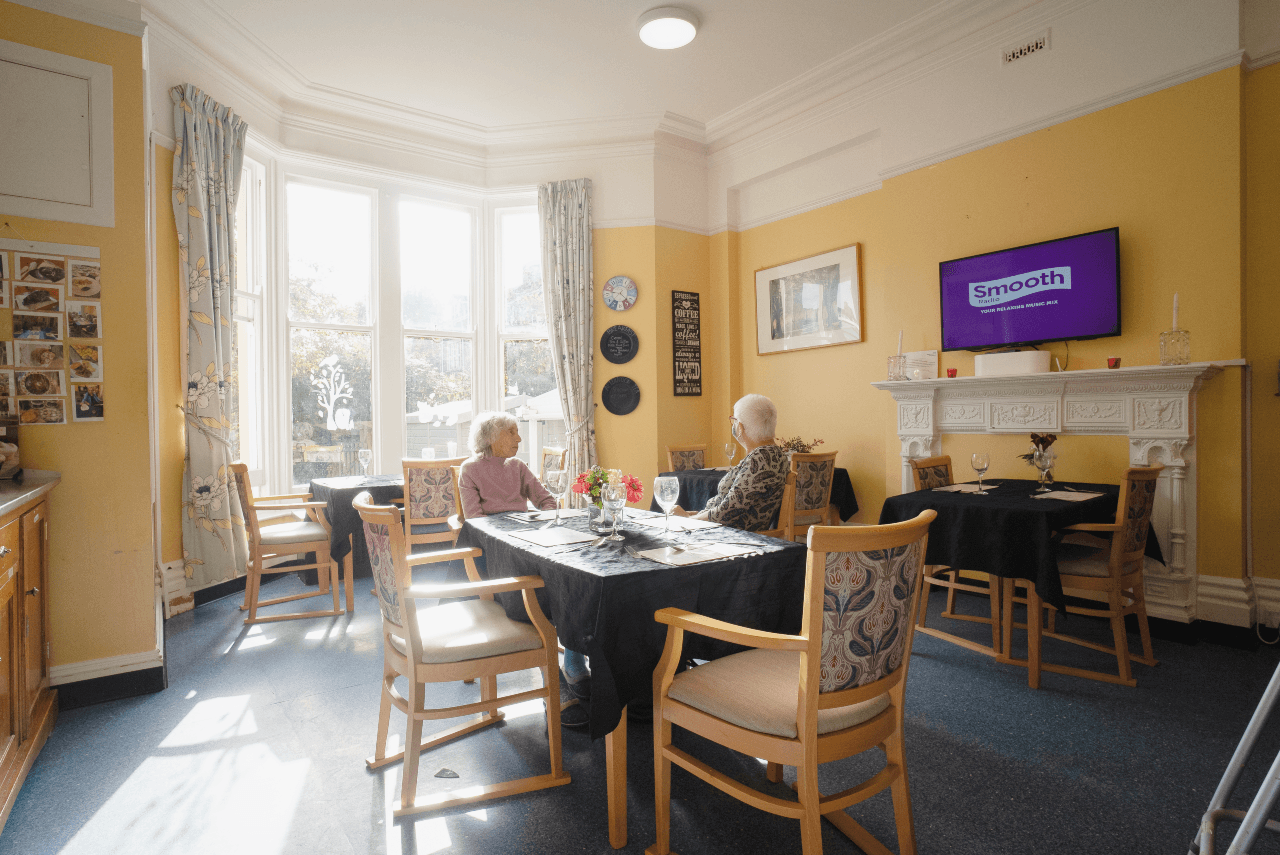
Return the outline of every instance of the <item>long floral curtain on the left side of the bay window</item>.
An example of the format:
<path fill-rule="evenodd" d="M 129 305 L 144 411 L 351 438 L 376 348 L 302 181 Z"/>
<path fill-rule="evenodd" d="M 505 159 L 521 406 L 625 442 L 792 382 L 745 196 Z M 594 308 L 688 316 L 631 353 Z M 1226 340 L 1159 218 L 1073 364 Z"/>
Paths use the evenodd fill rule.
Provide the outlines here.
<path fill-rule="evenodd" d="M 173 216 L 187 291 L 187 457 L 182 472 L 182 552 L 187 585 L 244 573 L 248 547 L 232 462 L 229 384 L 236 293 L 236 196 L 248 125 L 189 83 L 169 90 L 177 146 Z"/>

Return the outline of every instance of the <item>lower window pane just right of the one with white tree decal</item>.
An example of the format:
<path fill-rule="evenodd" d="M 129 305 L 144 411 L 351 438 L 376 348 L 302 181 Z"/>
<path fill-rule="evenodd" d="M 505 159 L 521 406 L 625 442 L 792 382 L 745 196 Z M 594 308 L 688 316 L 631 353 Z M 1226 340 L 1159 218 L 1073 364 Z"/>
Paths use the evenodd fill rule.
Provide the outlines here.
<path fill-rule="evenodd" d="M 406 457 L 467 454 L 471 342 L 404 337 Z M 453 443 L 451 449 L 449 443 Z M 422 449 L 431 449 L 431 454 Z M 461 449 L 461 451 L 460 451 Z"/>

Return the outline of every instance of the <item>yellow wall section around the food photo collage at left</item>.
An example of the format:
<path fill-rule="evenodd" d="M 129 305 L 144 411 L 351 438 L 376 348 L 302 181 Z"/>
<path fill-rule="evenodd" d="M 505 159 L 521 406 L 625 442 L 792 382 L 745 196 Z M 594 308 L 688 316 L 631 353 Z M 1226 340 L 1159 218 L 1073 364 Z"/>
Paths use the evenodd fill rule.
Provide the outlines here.
<path fill-rule="evenodd" d="M 115 227 L 5 216 L 24 238 L 102 257 L 106 420 L 22 427 L 24 467 L 56 470 L 50 507 L 52 664 L 152 650 L 147 453 L 146 147 L 142 40 L 0 0 L 4 38 L 113 68 Z"/>

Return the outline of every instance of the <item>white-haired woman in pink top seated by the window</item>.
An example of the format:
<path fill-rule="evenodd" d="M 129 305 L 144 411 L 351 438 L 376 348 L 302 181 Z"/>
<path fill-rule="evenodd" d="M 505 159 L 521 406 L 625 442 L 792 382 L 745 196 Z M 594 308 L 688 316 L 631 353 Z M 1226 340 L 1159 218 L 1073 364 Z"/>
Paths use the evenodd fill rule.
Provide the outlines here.
<path fill-rule="evenodd" d="M 506 412 L 481 412 L 471 422 L 471 457 L 462 465 L 458 490 L 467 517 L 507 511 L 527 511 L 529 503 L 543 511 L 556 507 L 556 498 L 538 483 L 520 451 L 520 425 Z"/>

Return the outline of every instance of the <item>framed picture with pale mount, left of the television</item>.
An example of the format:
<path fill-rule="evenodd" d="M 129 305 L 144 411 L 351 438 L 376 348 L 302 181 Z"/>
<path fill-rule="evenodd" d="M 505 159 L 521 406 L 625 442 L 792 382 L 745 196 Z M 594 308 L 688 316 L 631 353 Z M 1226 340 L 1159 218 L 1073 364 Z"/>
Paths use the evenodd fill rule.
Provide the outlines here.
<path fill-rule="evenodd" d="M 858 244 L 755 271 L 756 349 L 803 351 L 863 340 Z"/>

